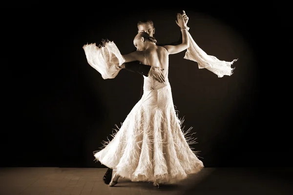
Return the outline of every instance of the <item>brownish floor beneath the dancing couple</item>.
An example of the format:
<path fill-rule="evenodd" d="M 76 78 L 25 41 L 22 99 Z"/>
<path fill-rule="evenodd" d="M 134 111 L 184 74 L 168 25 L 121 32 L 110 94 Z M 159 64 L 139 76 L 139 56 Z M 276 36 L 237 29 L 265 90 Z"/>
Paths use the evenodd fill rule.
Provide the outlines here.
<path fill-rule="evenodd" d="M 102 181 L 105 168 L 0 168 L 0 195 L 293 195 L 292 168 L 204 168 L 159 189 L 120 178 Z"/>

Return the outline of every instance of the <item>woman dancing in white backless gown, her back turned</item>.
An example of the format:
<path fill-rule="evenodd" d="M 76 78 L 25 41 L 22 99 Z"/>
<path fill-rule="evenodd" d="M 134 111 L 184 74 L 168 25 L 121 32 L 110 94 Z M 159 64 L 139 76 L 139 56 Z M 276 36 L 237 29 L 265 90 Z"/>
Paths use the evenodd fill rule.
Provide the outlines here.
<path fill-rule="evenodd" d="M 181 27 L 181 44 L 157 46 L 156 39 L 141 32 L 133 41 L 137 51 L 122 56 L 124 62 L 138 60 L 163 68 L 165 82 L 144 77 L 142 98 L 113 139 L 94 154 L 102 164 L 116 170 L 109 186 L 116 185 L 118 178 L 123 176 L 131 181 L 152 181 L 159 187 L 160 183 L 177 182 L 204 167 L 181 129 L 168 81 L 168 56 L 189 46 L 187 26 L 181 14 L 177 14 L 176 22 Z M 108 54 L 110 63 L 122 64 L 117 52 Z"/>

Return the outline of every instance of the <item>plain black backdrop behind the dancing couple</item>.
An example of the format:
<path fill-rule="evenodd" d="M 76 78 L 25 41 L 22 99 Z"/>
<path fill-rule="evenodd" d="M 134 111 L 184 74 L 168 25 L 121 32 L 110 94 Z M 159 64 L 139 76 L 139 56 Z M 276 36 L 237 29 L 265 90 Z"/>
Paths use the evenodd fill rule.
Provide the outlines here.
<path fill-rule="evenodd" d="M 176 14 L 182 10 L 189 17 L 189 33 L 207 54 L 238 59 L 232 76 L 218 78 L 183 59 L 185 52 L 170 56 L 174 105 L 185 118 L 185 130 L 192 126 L 196 132 L 193 147 L 205 166 L 291 166 L 289 128 L 284 128 L 283 112 L 273 110 L 276 102 L 284 102 L 272 98 L 278 97 L 278 86 L 265 79 L 271 67 L 277 72 L 273 80 L 284 72 L 276 68 L 277 46 L 292 44 L 285 38 L 285 7 L 282 20 L 275 22 L 276 17 L 248 4 L 143 5 L 7 6 L 1 13 L 1 166 L 104 167 L 94 162 L 92 152 L 139 100 L 143 78 L 122 70 L 104 80 L 87 63 L 82 47 L 109 39 L 122 54 L 131 52 L 142 19 L 154 21 L 158 42 L 175 41 L 180 35 Z M 271 91 L 263 96 L 266 87 Z"/>

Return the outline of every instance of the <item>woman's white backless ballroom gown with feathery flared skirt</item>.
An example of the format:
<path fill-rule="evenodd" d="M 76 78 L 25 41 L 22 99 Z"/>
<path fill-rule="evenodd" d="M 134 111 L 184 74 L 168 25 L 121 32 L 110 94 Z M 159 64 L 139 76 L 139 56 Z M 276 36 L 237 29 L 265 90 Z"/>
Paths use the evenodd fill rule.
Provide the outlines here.
<path fill-rule="evenodd" d="M 145 62 L 147 64 L 146 55 Z M 148 64 L 147 64 L 148 65 Z M 192 151 L 177 117 L 168 71 L 165 83 L 144 76 L 144 94 L 113 139 L 94 156 L 131 181 L 175 183 L 199 172 L 203 162 Z"/>

